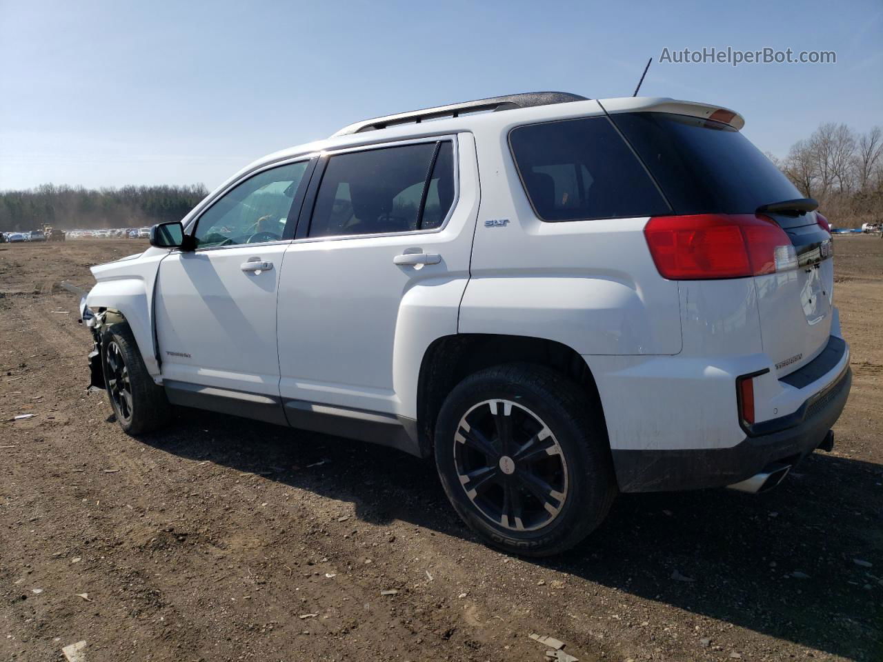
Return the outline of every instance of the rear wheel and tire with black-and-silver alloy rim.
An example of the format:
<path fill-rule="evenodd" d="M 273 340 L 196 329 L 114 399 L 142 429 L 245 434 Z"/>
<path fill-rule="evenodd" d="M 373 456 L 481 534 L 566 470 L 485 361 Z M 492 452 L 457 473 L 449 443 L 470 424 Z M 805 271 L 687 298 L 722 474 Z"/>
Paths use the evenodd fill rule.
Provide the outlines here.
<path fill-rule="evenodd" d="M 569 550 L 600 525 L 617 493 L 598 407 L 539 365 L 496 366 L 461 381 L 442 404 L 434 452 L 457 514 L 509 553 Z"/>

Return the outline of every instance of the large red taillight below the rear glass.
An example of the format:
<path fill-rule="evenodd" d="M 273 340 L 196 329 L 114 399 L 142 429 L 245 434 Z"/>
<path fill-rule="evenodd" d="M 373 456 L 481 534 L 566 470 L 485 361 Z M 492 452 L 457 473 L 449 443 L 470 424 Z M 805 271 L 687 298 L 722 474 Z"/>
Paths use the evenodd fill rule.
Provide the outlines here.
<path fill-rule="evenodd" d="M 797 267 L 788 235 L 760 214 L 653 216 L 644 236 L 660 275 L 673 281 L 744 278 Z"/>

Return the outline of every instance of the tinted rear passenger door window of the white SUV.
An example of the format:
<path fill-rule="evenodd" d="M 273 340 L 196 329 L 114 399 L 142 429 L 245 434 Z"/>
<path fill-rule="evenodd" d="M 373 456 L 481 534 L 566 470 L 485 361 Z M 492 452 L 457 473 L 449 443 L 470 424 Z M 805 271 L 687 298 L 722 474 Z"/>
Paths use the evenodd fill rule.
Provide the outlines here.
<path fill-rule="evenodd" d="M 316 194 L 309 237 L 434 229 L 453 200 L 449 140 L 336 154 Z"/>

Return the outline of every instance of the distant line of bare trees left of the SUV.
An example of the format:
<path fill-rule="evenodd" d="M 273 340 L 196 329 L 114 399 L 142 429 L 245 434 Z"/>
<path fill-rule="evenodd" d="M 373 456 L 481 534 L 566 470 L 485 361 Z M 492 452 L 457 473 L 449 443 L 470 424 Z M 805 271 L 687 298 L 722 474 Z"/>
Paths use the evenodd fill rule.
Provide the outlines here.
<path fill-rule="evenodd" d="M 208 195 L 202 184 L 86 189 L 42 184 L 0 192 L 0 231 L 49 223 L 60 229 L 132 228 L 179 221 Z"/>

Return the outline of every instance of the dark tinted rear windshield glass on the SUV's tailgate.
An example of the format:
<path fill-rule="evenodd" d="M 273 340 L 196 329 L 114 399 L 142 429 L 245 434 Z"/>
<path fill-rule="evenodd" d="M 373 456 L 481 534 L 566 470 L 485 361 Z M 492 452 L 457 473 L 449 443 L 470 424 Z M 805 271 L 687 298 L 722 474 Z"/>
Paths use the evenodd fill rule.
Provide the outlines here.
<path fill-rule="evenodd" d="M 728 124 L 668 113 L 613 118 L 676 214 L 752 214 L 761 205 L 804 197 Z"/>

